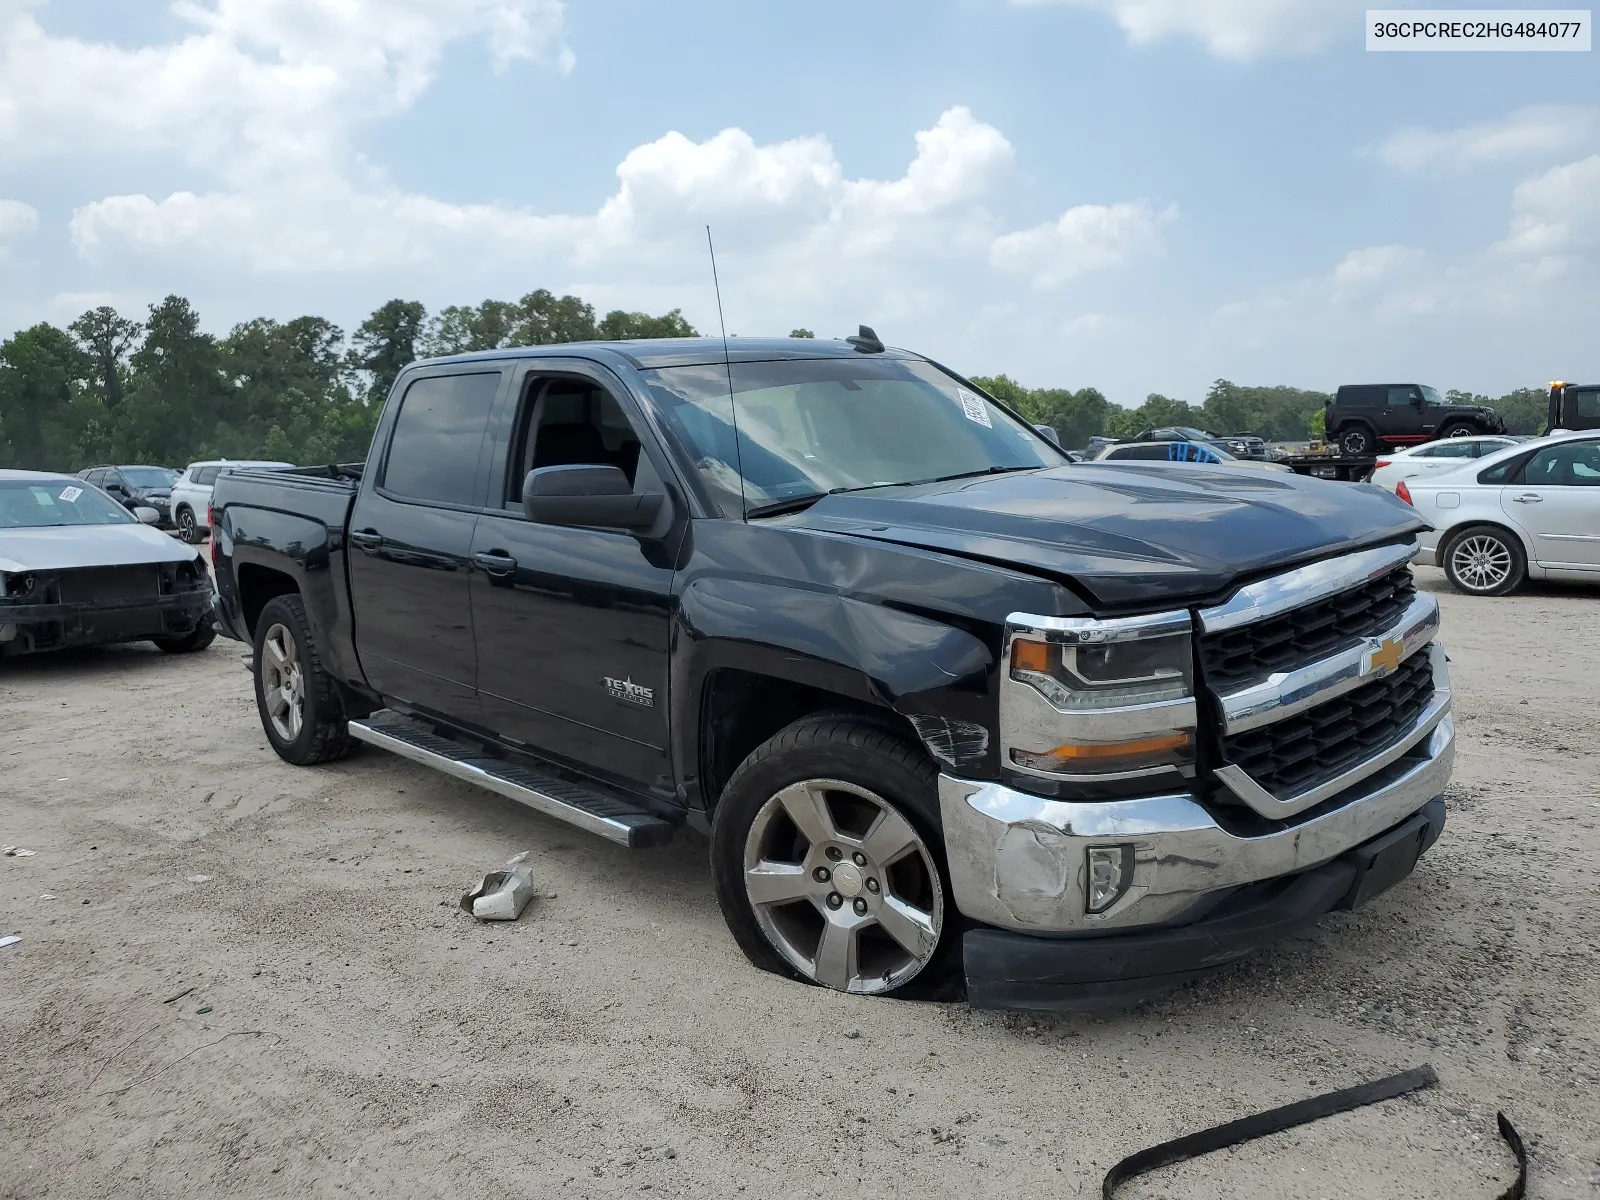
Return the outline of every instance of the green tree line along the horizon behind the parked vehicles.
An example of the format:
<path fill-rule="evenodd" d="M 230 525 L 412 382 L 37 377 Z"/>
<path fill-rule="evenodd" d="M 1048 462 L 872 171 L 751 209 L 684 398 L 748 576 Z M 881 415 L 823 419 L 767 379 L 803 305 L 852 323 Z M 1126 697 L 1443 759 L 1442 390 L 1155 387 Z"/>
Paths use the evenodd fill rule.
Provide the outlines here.
<path fill-rule="evenodd" d="M 342 462 L 365 458 L 384 397 L 419 358 L 512 346 L 622 338 L 693 338 L 674 309 L 659 317 L 605 315 L 578 296 L 530 291 L 429 314 L 394 299 L 354 334 L 322 317 L 235 325 L 203 333 L 182 296 L 152 304 L 144 320 L 112 307 L 67 328 L 35 325 L 0 344 L 0 466 L 77 470 L 96 462 L 184 466 L 202 458 Z M 790 336 L 811 338 L 797 328 Z M 1094 387 L 1026 387 L 1010 376 L 978 378 L 1066 446 L 1094 435 L 1130 437 L 1157 426 L 1258 434 L 1274 442 L 1322 437 L 1328 395 L 1301 387 L 1245 387 L 1218 379 L 1198 405 L 1152 394 L 1123 408 Z M 1450 392 L 1493 405 L 1509 432 L 1542 429 L 1546 395 Z"/>

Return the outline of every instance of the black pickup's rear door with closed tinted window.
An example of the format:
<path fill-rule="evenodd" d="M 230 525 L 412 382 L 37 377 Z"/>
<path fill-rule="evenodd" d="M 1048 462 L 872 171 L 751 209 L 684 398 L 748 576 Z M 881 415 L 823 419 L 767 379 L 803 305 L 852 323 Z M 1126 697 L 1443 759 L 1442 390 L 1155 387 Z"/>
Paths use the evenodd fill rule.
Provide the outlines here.
<path fill-rule="evenodd" d="M 477 723 L 472 533 L 498 363 L 427 368 L 392 403 L 350 514 L 355 651 L 386 698 Z"/>

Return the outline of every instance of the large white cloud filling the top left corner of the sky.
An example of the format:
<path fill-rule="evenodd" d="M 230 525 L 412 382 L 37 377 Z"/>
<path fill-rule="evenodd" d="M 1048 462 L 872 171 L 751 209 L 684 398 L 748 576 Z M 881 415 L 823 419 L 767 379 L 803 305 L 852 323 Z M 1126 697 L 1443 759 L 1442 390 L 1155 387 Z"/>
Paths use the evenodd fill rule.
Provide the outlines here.
<path fill-rule="evenodd" d="M 54 37 L 40 0 L 0 0 L 0 152 L 176 149 L 194 160 L 325 155 L 352 123 L 411 104 L 443 48 L 496 67 L 571 66 L 560 0 L 178 0 L 184 38 L 128 50 Z"/>

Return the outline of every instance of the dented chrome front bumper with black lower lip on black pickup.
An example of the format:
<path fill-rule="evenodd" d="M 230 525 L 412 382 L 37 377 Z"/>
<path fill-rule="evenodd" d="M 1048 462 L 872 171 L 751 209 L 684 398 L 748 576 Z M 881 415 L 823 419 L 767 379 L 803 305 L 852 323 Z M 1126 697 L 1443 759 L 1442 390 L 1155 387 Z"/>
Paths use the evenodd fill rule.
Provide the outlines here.
<path fill-rule="evenodd" d="M 1365 902 L 1443 829 L 1454 722 L 1448 707 L 1434 720 L 1403 755 L 1293 824 L 1219 821 L 1187 794 L 1082 803 L 941 776 L 955 906 L 982 923 L 965 934 L 971 1002 L 1134 1003 Z M 1088 850 L 1115 845 L 1133 846 L 1131 883 L 1090 914 Z"/>

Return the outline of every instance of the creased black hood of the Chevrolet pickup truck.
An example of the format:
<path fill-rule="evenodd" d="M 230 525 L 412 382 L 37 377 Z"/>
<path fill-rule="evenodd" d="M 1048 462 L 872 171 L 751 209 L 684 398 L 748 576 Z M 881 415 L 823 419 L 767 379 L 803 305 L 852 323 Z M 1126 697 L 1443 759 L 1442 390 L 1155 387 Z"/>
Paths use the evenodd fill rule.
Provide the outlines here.
<path fill-rule="evenodd" d="M 1014 565 L 1109 610 L 1205 600 L 1242 576 L 1427 528 L 1411 506 L 1366 485 L 1133 462 L 842 493 L 792 520 Z"/>

